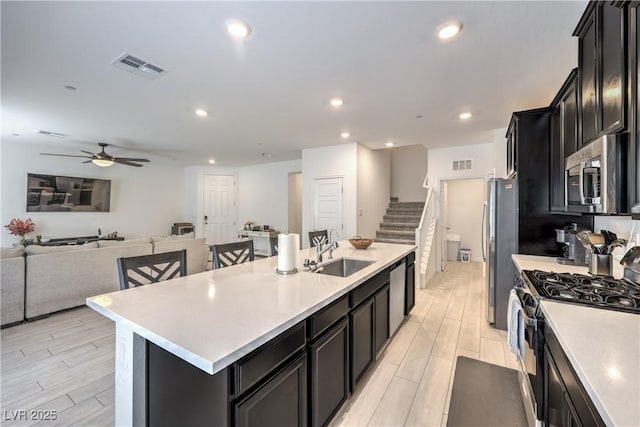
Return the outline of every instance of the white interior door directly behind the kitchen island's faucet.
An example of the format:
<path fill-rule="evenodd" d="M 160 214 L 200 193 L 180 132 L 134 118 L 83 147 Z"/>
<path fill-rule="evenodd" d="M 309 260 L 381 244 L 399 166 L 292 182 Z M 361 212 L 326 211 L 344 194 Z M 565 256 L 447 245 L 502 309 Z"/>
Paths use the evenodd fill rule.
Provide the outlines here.
<path fill-rule="evenodd" d="M 328 230 L 330 241 L 340 240 L 344 236 L 342 195 L 342 178 L 313 180 L 313 229 Z"/>

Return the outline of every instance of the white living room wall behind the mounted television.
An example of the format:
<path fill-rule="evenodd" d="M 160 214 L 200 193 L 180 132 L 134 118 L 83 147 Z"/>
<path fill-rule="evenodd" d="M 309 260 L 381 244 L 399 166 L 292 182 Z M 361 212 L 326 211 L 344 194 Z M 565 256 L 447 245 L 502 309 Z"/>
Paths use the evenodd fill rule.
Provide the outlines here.
<path fill-rule="evenodd" d="M 81 147 L 84 148 L 84 147 Z M 27 237 L 90 236 L 117 231 L 125 238 L 168 234 L 171 224 L 184 217 L 184 174 L 182 167 L 152 161 L 142 168 L 114 165 L 100 168 L 83 164 L 80 158 L 41 156 L 51 145 L 2 141 L 1 225 L 12 218 L 31 218 L 36 230 Z M 80 154 L 78 152 L 78 154 Z M 27 173 L 66 175 L 111 180 L 110 212 L 26 212 Z M 2 246 L 18 241 L 2 227 Z"/>

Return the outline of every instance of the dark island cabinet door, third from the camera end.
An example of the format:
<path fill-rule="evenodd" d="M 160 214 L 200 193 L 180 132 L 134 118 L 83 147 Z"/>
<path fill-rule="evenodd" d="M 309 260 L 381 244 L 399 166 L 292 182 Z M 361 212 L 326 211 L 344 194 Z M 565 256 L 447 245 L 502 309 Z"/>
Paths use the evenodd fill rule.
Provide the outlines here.
<path fill-rule="evenodd" d="M 373 304 L 374 299 L 371 297 L 349 315 L 351 318 L 351 390 L 355 390 L 356 384 L 375 358 Z"/>

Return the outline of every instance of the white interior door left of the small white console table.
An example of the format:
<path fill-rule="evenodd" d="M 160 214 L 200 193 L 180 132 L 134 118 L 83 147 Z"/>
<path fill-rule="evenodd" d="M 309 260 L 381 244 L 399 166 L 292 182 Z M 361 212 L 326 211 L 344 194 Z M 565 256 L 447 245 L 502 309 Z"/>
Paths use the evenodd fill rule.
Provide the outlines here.
<path fill-rule="evenodd" d="M 238 240 L 236 182 L 233 175 L 204 176 L 204 236 L 207 244 Z"/>

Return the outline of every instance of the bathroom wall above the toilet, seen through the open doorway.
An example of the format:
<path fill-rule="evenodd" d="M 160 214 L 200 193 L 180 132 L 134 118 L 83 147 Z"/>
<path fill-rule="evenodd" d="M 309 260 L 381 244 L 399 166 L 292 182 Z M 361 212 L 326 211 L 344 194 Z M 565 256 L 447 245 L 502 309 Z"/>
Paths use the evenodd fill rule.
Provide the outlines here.
<path fill-rule="evenodd" d="M 484 203 L 484 179 L 447 181 L 448 233 L 459 234 L 460 247 L 471 249 L 471 259 L 482 261 L 482 205 Z"/>

